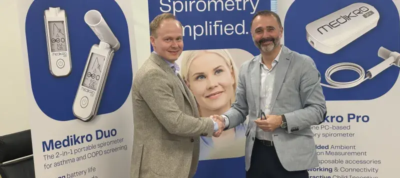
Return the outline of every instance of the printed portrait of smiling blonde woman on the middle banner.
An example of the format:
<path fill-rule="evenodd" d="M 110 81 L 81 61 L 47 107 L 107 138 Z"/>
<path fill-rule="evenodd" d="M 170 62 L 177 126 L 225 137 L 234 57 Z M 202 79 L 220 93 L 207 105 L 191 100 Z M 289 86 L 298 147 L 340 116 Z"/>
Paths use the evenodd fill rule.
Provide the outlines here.
<path fill-rule="evenodd" d="M 200 117 L 220 115 L 230 108 L 235 99 L 237 68 L 252 57 L 242 49 L 199 49 L 182 53 L 177 62 L 181 64 L 181 76 L 196 99 Z M 199 160 L 244 156 L 247 124 L 246 119 L 219 137 L 200 136 Z"/>

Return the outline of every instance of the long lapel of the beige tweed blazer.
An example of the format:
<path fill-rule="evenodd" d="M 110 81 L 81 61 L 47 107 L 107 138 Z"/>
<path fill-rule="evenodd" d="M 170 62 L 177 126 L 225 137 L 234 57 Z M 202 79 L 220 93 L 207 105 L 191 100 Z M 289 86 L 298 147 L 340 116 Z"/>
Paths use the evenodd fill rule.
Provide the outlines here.
<path fill-rule="evenodd" d="M 182 91 L 184 97 L 189 101 L 191 108 L 193 108 L 193 110 L 194 110 L 195 101 L 193 102 L 192 99 L 190 99 L 192 97 L 189 97 L 188 94 L 186 93 L 186 90 L 184 88 L 185 83 L 180 78 L 179 74 L 178 74 L 178 77 L 176 77 L 175 73 L 173 72 L 173 69 L 158 54 L 151 52 L 149 58 L 151 60 L 153 60 L 157 65 L 159 65 L 161 67 L 161 69 L 163 69 L 175 81 L 175 83 L 178 85 L 180 91 Z M 190 91 L 188 89 L 187 89 L 187 91 L 191 96 Z"/>

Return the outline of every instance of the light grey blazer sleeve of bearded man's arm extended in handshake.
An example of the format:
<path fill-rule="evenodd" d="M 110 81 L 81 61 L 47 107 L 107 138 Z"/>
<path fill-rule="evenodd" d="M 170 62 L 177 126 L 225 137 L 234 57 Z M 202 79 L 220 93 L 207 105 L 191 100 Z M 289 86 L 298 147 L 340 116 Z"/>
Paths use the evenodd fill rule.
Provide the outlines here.
<path fill-rule="evenodd" d="M 240 123 L 243 123 L 248 115 L 246 81 L 243 68 L 245 68 L 245 66 L 241 65 L 236 87 L 236 99 L 231 104 L 231 107 L 223 114 L 229 119 L 229 125 L 226 129 L 233 128 Z"/>

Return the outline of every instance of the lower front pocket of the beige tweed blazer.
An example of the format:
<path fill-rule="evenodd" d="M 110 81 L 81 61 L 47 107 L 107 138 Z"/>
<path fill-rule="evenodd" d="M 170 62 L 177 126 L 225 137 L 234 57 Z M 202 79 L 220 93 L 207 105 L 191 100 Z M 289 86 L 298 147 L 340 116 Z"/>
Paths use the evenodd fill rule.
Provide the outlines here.
<path fill-rule="evenodd" d="M 151 171 L 161 176 L 172 176 L 176 173 L 182 152 L 179 152 L 180 141 L 154 140 L 149 144 L 147 158 Z"/>

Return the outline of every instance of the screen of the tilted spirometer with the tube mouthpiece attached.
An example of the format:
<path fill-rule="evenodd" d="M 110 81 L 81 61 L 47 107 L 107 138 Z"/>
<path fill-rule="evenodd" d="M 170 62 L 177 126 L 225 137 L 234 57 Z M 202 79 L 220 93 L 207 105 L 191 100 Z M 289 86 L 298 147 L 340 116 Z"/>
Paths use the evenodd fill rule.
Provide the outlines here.
<path fill-rule="evenodd" d="M 91 53 L 89 64 L 87 65 L 86 74 L 83 79 L 83 86 L 97 90 L 101 73 L 103 72 L 105 56 Z"/>

